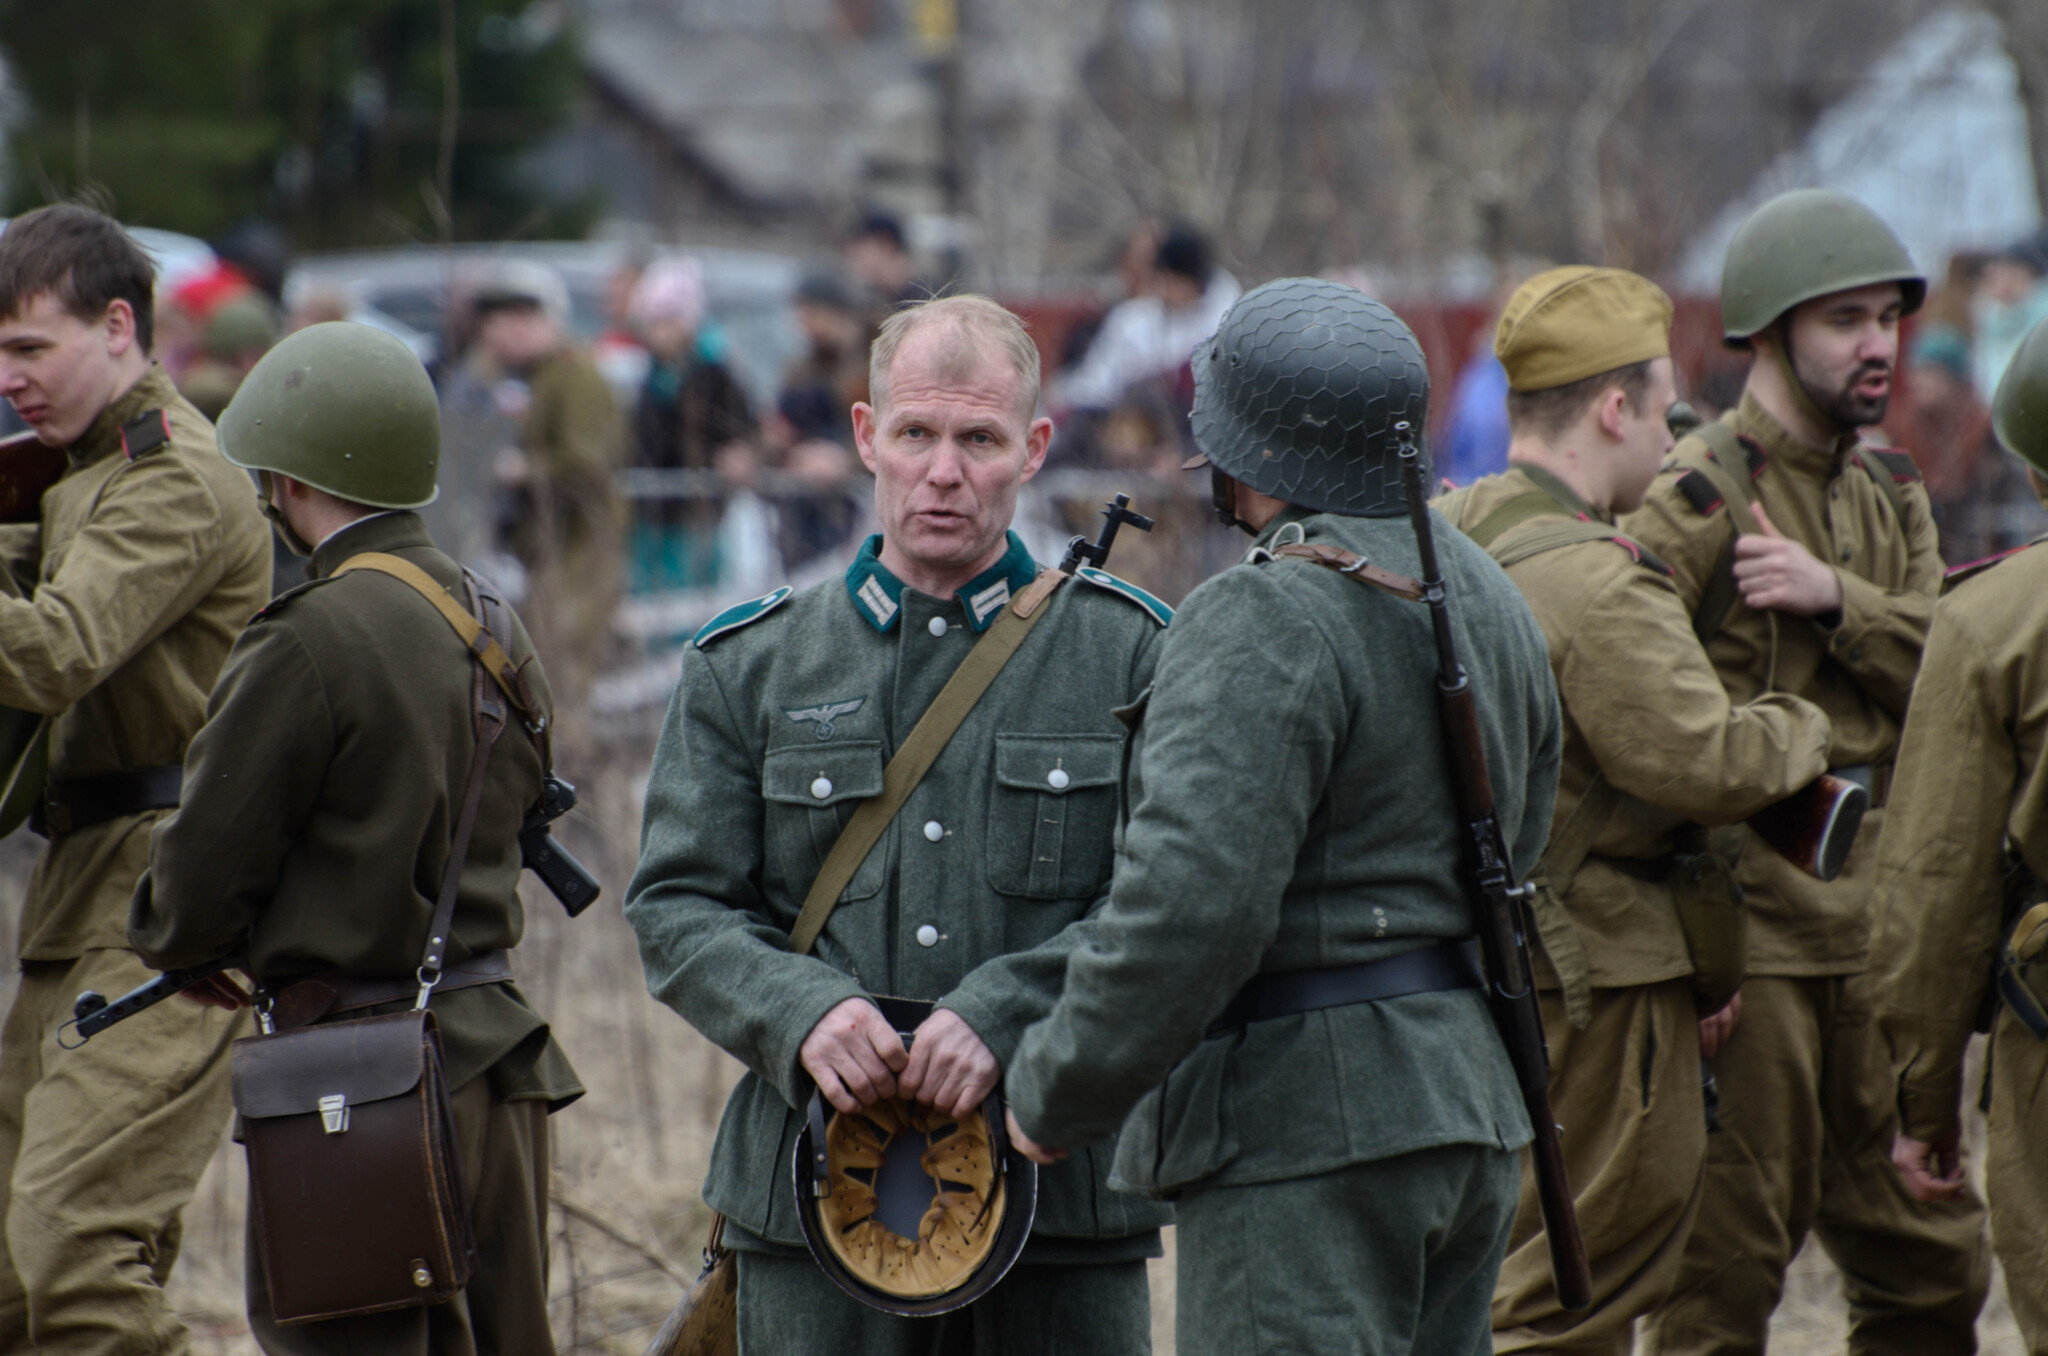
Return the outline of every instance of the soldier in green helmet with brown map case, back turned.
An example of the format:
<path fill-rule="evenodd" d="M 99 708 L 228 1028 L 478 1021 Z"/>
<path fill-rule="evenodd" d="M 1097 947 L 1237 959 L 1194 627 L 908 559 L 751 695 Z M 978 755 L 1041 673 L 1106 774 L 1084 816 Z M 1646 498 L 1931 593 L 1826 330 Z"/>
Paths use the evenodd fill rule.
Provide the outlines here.
<path fill-rule="evenodd" d="M 260 475 L 311 582 L 227 658 L 193 739 L 193 793 L 156 830 L 127 938 L 164 969 L 242 957 L 279 1030 L 430 1004 L 479 1245 L 475 1278 L 444 1305 L 285 1325 L 252 1213 L 250 1325 L 272 1354 L 551 1354 L 547 1114 L 582 1086 L 510 969 L 524 932 L 518 834 L 551 758 L 547 678 L 510 608 L 465 586 L 414 512 L 436 494 L 440 416 L 399 340 L 342 322 L 293 334 L 250 373 L 221 440 Z M 512 688 L 479 680 L 434 592 L 498 637 Z M 479 760 L 473 703 L 500 690 L 512 711 Z M 424 993 L 473 764 L 483 780 L 453 936 Z M 88 1049 L 127 1039 L 125 1024 Z M 336 1268 L 348 1245 L 334 1239 Z"/>

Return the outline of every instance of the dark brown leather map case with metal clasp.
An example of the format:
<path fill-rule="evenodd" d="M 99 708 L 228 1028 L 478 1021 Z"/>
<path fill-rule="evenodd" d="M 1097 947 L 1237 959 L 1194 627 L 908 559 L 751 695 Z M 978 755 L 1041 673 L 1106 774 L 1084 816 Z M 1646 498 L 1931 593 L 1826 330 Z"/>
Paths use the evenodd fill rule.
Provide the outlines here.
<path fill-rule="evenodd" d="M 233 1065 L 279 1323 L 438 1305 L 469 1284 L 477 1239 L 430 1012 L 236 1041 Z"/>

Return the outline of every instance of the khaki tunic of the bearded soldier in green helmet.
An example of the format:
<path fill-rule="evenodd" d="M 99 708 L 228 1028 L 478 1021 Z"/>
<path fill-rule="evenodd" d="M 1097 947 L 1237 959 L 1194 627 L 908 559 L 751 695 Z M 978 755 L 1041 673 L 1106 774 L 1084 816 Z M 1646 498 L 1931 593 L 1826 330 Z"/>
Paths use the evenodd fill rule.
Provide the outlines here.
<path fill-rule="evenodd" d="M 1884 492 L 1849 461 L 1853 436 L 1835 447 L 1810 447 L 1747 393 L 1724 418 L 1747 444 L 1755 502 L 1782 535 L 1804 543 L 1841 578 L 1841 615 L 1757 612 L 1737 594 L 1706 655 L 1731 703 L 1790 692 L 1819 707 L 1833 729 L 1831 766 L 1888 764 L 1942 586 L 1927 492 L 1917 473 L 1894 473 L 1905 506 L 1901 522 Z M 1708 578 L 1722 567 L 1733 533 L 1729 510 L 1718 496 L 1702 492 L 1704 475 L 1694 471 L 1704 457 L 1698 436 L 1683 438 L 1642 508 L 1622 520 L 1622 531 L 1671 565 L 1671 584 L 1688 615 L 1698 610 Z M 1749 973 L 1847 975 L 1864 969 L 1882 825 L 1884 811 L 1874 807 L 1847 866 L 1831 883 L 1761 844 L 1743 852 Z"/>

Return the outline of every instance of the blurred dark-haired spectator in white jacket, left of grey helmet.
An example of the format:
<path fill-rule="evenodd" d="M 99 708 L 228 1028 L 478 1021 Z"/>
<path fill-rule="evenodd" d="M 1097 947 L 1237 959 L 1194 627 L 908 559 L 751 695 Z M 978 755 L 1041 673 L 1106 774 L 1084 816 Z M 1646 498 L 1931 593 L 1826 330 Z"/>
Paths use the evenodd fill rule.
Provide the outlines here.
<path fill-rule="evenodd" d="M 1053 404 L 1110 410 L 1139 381 L 1176 379 L 1237 293 L 1237 279 L 1210 264 L 1208 242 L 1176 225 L 1153 252 L 1145 293 L 1110 309 L 1087 352 L 1059 381 Z"/>

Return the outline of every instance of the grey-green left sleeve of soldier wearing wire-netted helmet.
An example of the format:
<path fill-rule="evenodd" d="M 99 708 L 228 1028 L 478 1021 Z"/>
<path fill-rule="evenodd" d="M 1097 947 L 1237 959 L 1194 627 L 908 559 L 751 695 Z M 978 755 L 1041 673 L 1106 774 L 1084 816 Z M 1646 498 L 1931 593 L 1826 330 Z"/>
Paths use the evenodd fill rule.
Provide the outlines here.
<path fill-rule="evenodd" d="M 1065 1147 L 1112 1135 L 1257 971 L 1348 727 L 1329 641 L 1266 571 L 1231 569 L 1176 615 L 1110 903 L 1010 1067 L 1026 1133 Z"/>

